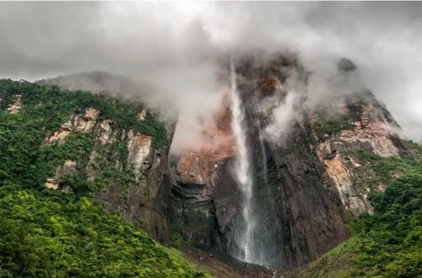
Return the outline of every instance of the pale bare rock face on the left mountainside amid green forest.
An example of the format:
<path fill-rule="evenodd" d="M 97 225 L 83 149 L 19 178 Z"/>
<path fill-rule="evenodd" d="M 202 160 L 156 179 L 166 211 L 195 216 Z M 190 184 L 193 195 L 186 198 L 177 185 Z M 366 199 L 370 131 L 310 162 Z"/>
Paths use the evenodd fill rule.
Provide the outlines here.
<path fill-rule="evenodd" d="M 150 135 L 116 127 L 111 119 L 98 121 L 99 114 L 99 110 L 89 107 L 83 114 L 72 115 L 59 130 L 45 138 L 44 144 L 51 144 L 63 143 L 72 132 L 93 137 L 86 161 L 65 161 L 45 186 L 69 192 L 71 188 L 62 181 L 74 172 L 71 169 L 77 163 L 80 175 L 88 183 L 100 186 L 93 194 L 94 201 L 166 242 L 169 223 L 163 184 L 167 179 L 168 149 L 154 147 Z"/>

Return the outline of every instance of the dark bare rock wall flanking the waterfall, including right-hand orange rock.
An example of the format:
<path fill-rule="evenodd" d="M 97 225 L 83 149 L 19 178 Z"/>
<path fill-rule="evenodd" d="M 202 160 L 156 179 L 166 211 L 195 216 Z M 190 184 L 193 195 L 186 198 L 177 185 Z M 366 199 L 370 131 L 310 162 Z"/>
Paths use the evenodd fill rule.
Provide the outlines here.
<path fill-rule="evenodd" d="M 344 79 L 355 71 L 350 61 L 339 63 Z M 294 76 L 296 85 L 306 88 L 309 73 L 282 56 L 265 64 L 240 60 L 236 73 L 251 152 L 258 263 L 302 265 L 345 241 L 347 215 L 371 212 L 368 191 L 383 189 L 355 182 L 361 165 L 349 154 L 364 149 L 399 155 L 393 137 L 400 127 L 367 90 L 334 95 L 329 104 L 321 104 L 309 101 L 312 88 L 295 98 L 293 116 L 277 126 L 276 106 L 287 103 L 294 90 L 287 78 Z M 284 129 L 276 140 L 274 127 Z M 230 132 L 225 129 L 226 135 Z M 233 255 L 240 252 L 236 239 L 245 226 L 241 192 L 232 174 L 236 146 L 230 152 L 210 152 L 191 151 L 173 159 L 171 222 L 184 238 Z"/>

